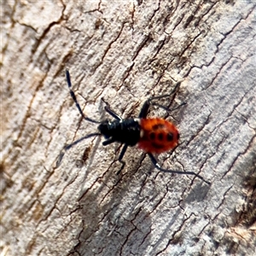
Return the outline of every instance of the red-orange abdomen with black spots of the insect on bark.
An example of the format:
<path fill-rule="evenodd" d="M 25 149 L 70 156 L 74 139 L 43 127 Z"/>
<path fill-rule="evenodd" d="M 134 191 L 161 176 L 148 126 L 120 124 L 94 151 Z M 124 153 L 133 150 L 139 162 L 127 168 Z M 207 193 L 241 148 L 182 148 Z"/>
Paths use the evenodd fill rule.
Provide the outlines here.
<path fill-rule="evenodd" d="M 175 125 L 165 119 L 141 119 L 138 148 L 146 153 L 160 154 L 177 146 L 179 134 Z"/>

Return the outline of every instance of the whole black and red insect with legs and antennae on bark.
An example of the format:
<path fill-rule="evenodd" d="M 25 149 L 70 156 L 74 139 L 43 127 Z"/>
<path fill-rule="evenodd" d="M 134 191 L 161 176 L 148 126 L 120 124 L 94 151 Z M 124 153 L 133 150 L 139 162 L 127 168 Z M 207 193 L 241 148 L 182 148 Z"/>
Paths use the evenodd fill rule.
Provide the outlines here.
<path fill-rule="evenodd" d="M 90 123 L 98 124 L 98 132 L 90 133 L 84 137 L 79 138 L 75 142 L 68 144 L 64 147 L 59 155 L 57 160 L 56 166 L 60 166 L 61 160 L 65 154 L 65 152 L 72 148 L 77 143 L 80 143 L 84 139 L 89 137 L 96 137 L 96 136 L 103 136 L 105 141 L 103 141 L 103 146 L 107 146 L 111 143 L 121 143 L 123 144 L 123 148 L 119 154 L 119 162 L 122 164 L 119 172 L 124 168 L 125 161 L 123 157 L 125 155 L 126 149 L 128 147 L 133 147 L 137 145 L 138 148 L 143 149 L 143 151 L 148 154 L 150 160 L 153 162 L 154 166 L 160 170 L 161 172 L 169 172 L 169 173 L 177 173 L 183 175 L 194 175 L 195 177 L 201 178 L 207 184 L 210 184 L 207 180 L 205 180 L 201 175 L 195 172 L 182 172 L 182 171 L 175 171 L 175 170 L 166 170 L 160 167 L 159 163 L 154 157 L 154 154 L 160 154 L 166 152 L 172 148 L 177 147 L 179 133 L 175 125 L 171 122 L 167 121 L 166 119 L 160 118 L 147 118 L 148 109 L 151 105 L 158 106 L 160 108 L 164 108 L 166 111 L 170 112 L 174 109 L 180 108 L 185 104 L 177 106 L 177 108 L 173 108 L 172 110 L 161 106 L 160 104 L 154 102 L 155 100 L 165 98 L 167 96 L 171 96 L 177 87 L 179 86 L 180 82 L 178 82 L 172 92 L 167 95 L 162 96 L 153 96 L 150 97 L 146 102 L 143 103 L 143 108 L 141 109 L 137 118 L 129 118 L 129 119 L 122 119 L 117 113 L 115 113 L 109 106 L 108 102 L 105 102 L 103 99 L 102 101 L 105 102 L 105 110 L 113 117 L 113 121 L 109 119 L 105 119 L 103 121 L 97 121 L 95 119 L 90 119 L 89 117 L 85 116 L 82 109 L 80 108 L 79 102 L 77 97 L 75 96 L 72 90 L 72 84 L 70 79 L 70 74 L 68 69 L 66 70 L 66 79 L 67 79 L 67 86 L 69 88 L 70 95 L 73 98 L 73 102 L 75 102 L 76 107 L 79 109 L 79 113 L 86 121 Z M 118 173 L 119 173 L 118 172 Z"/>

